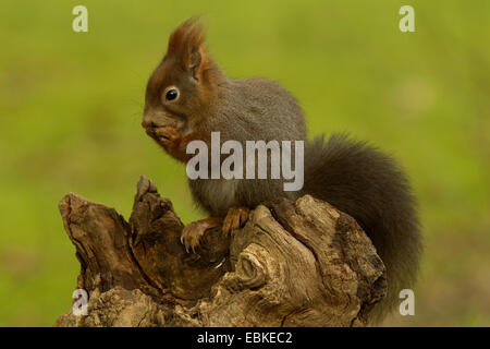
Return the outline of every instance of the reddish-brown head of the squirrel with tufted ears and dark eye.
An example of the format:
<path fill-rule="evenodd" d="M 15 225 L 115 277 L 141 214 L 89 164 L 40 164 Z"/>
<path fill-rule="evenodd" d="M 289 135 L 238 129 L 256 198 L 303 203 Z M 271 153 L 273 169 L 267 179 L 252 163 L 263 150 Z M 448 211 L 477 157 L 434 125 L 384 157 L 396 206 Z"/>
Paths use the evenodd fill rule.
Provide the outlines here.
<path fill-rule="evenodd" d="M 174 125 L 185 133 L 209 110 L 224 79 L 204 47 L 203 25 L 191 17 L 170 35 L 167 55 L 151 74 L 145 97 L 145 129 Z"/>

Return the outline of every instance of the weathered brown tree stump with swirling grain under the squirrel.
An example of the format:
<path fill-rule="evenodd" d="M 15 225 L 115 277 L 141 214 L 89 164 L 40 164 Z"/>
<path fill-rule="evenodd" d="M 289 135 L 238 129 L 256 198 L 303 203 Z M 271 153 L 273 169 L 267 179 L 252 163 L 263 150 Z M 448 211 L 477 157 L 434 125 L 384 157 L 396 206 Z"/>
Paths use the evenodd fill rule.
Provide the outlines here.
<path fill-rule="evenodd" d="M 145 177 L 128 222 L 73 193 L 59 207 L 88 312 L 70 310 L 56 326 L 365 326 L 387 292 L 357 222 L 308 195 L 259 205 L 231 236 L 207 231 L 196 253 Z"/>

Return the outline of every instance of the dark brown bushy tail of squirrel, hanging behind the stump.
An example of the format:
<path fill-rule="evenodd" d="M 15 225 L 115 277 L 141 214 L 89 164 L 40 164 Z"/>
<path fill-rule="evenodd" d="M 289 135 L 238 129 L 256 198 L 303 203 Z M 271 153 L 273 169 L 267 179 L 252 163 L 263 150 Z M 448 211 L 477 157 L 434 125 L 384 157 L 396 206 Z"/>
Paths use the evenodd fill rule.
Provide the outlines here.
<path fill-rule="evenodd" d="M 335 134 L 305 146 L 302 195 L 323 200 L 357 220 L 387 267 L 388 294 L 371 311 L 376 324 L 411 288 L 421 253 L 416 202 L 395 161 L 365 142 Z"/>

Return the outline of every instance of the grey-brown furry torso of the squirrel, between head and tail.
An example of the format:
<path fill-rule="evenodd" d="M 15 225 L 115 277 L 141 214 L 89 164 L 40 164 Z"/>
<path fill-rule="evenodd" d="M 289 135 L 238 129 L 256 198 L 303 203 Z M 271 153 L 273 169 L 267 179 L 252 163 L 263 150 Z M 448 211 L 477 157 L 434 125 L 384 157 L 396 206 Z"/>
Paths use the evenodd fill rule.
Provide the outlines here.
<path fill-rule="evenodd" d="M 267 79 L 226 80 L 218 88 L 206 122 L 206 134 L 220 133 L 220 141 L 305 141 L 306 125 L 296 99 L 281 85 Z M 270 153 L 267 153 L 270 173 Z M 224 157 L 222 157 L 223 160 Z M 258 159 L 256 159 L 258 164 Z M 255 207 L 278 196 L 295 197 L 283 191 L 282 179 L 188 180 L 196 203 L 211 216 L 224 216 L 232 206 Z"/>

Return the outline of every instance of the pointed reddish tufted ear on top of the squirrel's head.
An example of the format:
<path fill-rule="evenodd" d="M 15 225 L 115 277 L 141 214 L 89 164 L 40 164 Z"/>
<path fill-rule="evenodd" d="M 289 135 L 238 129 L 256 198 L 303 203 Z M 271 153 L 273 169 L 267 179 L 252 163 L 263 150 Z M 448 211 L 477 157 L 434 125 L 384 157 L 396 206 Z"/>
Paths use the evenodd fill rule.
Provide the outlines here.
<path fill-rule="evenodd" d="M 203 47 L 205 40 L 203 25 L 191 17 L 179 25 L 170 35 L 168 56 L 177 56 L 182 68 L 199 80 L 207 63 Z"/>

